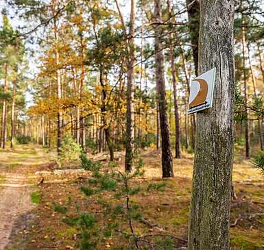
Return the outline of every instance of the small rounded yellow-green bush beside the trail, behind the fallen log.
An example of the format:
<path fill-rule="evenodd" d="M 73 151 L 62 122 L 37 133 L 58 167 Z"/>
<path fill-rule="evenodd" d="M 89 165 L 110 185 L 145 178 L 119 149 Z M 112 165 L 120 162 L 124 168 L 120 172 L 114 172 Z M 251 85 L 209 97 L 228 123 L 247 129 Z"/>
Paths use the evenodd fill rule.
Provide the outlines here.
<path fill-rule="evenodd" d="M 69 134 L 62 140 L 60 153 L 58 155 L 58 163 L 60 165 L 79 160 L 79 155 L 82 153 L 82 147 Z"/>

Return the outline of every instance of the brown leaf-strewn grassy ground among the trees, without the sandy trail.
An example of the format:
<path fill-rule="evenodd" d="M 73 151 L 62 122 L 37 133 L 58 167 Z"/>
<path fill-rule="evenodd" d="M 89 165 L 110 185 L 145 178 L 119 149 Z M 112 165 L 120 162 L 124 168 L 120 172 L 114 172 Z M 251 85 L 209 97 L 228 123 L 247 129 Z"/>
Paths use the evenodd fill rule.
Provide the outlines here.
<path fill-rule="evenodd" d="M 156 184 L 166 182 L 167 185 L 164 192 L 143 192 L 141 195 L 136 195 L 134 201 L 141 205 L 141 212 L 147 220 L 157 223 L 159 227 L 163 227 L 174 236 L 187 238 L 193 155 L 184 153 L 181 160 L 173 161 L 176 176 L 173 179 L 163 180 L 160 178 L 160 153 L 157 151 L 143 153 L 145 177 L 137 179 L 134 185 L 147 185 L 149 182 Z M 123 158 L 119 163 L 122 168 Z M 263 216 L 252 218 L 251 215 L 264 211 L 263 204 L 252 202 L 264 201 L 264 178 L 252 168 L 250 160 L 236 155 L 233 179 L 239 197 L 233 203 L 241 202 L 241 205 L 232 208 L 230 222 L 234 223 L 239 214 L 242 215 L 242 219 L 230 230 L 232 249 L 263 249 L 264 218 Z M 6 249 L 78 249 L 76 247 L 78 232 L 74 227 L 62 223 L 62 218 L 76 214 L 76 205 L 78 205 L 80 210 L 86 212 L 97 211 L 97 220 L 104 223 L 101 208 L 94 203 L 95 197 L 84 197 L 80 192 L 80 185 L 82 185 L 81 181 L 41 186 L 40 204 L 32 211 L 34 214 L 32 225 L 27 229 L 21 229 L 21 223 L 18 221 L 12 235 L 12 244 Z M 53 201 L 66 207 L 67 214 L 54 212 Z M 135 223 L 135 227 L 140 234 L 156 232 L 156 229 L 146 227 L 142 223 Z M 121 243 L 121 237 L 115 235 L 110 239 L 102 240 L 97 249 L 117 250 L 120 249 Z"/>

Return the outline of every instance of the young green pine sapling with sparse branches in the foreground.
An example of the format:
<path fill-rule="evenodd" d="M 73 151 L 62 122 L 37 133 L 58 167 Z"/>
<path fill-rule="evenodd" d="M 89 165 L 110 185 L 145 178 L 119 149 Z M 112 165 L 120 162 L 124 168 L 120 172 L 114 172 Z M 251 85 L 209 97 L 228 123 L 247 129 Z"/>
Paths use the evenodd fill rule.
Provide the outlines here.
<path fill-rule="evenodd" d="M 136 155 L 136 153 L 135 153 Z M 80 154 L 82 168 L 91 171 L 91 178 L 88 179 L 88 186 L 81 186 L 80 190 L 87 197 L 93 199 L 102 209 L 100 221 L 97 221 L 97 214 L 87 214 L 78 208 L 78 216 L 63 218 L 64 223 L 76 227 L 80 232 L 80 249 L 97 249 L 101 238 L 112 237 L 121 232 L 123 240 L 128 242 L 129 249 L 139 249 L 140 232 L 136 232 L 134 225 L 143 218 L 141 205 L 136 203 L 132 197 L 140 192 L 151 192 L 152 190 L 164 190 L 166 183 L 149 184 L 148 186 L 135 185 L 132 182 L 136 177 L 143 175 L 143 163 L 141 159 L 135 160 L 136 167 L 132 173 L 122 173 L 117 164 L 101 166 L 99 162 L 89 160 L 86 154 Z M 56 205 L 56 210 L 66 212 L 64 207 Z M 121 223 L 122 222 L 122 223 Z M 122 226 L 121 226 L 122 225 Z M 124 227 L 126 225 L 126 227 Z M 152 238 L 155 249 L 171 249 L 171 238 Z M 144 245 L 145 244 L 145 245 Z M 140 249 L 147 249 L 144 243 Z"/>

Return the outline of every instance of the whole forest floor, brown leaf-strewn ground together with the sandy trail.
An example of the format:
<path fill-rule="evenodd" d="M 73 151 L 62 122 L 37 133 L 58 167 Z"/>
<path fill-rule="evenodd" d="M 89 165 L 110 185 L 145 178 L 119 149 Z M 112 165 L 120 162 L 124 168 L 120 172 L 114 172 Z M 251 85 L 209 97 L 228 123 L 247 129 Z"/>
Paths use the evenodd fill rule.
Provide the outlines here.
<path fill-rule="evenodd" d="M 142 155 L 145 174 L 135 179 L 134 185 L 152 183 L 166 186 L 163 192 L 152 190 L 133 197 L 147 221 L 147 224 L 135 222 L 134 229 L 148 234 L 160 233 L 163 229 L 162 234 L 182 239 L 176 242 L 177 249 L 184 249 L 193 155 L 184 153 L 182 159 L 173 160 L 175 177 L 171 179 L 160 178 L 158 151 L 149 149 Z M 102 155 L 97 156 L 100 158 Z M 120 169 L 123 161 L 123 154 L 119 153 Z M 95 204 L 95 197 L 86 197 L 80 191 L 80 186 L 87 184 L 86 173 L 80 171 L 82 176 L 78 173 L 69 178 L 67 173 L 58 174 L 54 168 L 57 167 L 53 154 L 36 145 L 20 145 L 12 151 L 0 151 L 0 249 L 79 249 L 77 228 L 62 220 L 80 211 L 96 210 L 97 221 L 103 223 L 103 213 Z M 235 154 L 233 173 L 237 199 L 232 201 L 231 207 L 232 249 L 264 249 L 264 177 L 239 151 Z M 58 204 L 57 209 L 54 201 Z M 121 236 L 114 235 L 101 238 L 95 249 L 120 250 L 122 244 Z"/>

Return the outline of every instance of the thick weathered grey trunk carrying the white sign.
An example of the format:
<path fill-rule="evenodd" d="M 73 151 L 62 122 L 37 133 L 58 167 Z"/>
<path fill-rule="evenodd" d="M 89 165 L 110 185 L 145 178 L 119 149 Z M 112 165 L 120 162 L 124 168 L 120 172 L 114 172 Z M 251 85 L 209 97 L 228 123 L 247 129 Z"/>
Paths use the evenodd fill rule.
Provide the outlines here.
<path fill-rule="evenodd" d="M 199 73 L 217 68 L 213 108 L 197 113 L 189 250 L 229 250 L 233 160 L 234 0 L 200 1 Z"/>

